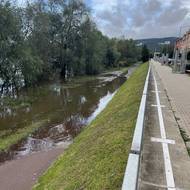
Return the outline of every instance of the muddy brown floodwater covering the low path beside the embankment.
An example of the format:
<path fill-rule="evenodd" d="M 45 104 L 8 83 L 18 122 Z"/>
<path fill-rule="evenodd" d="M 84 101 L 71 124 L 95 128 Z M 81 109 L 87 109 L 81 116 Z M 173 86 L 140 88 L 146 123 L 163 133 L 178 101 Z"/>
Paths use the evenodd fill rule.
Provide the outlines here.
<path fill-rule="evenodd" d="M 0 132 L 14 131 L 32 122 L 47 122 L 8 152 L 1 152 L 0 162 L 54 147 L 67 147 L 82 127 L 106 107 L 126 78 L 121 72 L 112 72 L 86 82 L 66 85 L 59 81 L 23 92 L 23 98 L 34 101 L 16 110 L 1 109 Z"/>

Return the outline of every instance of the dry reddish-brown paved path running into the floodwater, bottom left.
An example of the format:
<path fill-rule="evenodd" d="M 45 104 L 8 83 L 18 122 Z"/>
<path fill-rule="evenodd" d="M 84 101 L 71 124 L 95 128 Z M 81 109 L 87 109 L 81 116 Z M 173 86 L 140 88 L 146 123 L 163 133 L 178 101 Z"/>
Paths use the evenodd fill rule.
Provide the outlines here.
<path fill-rule="evenodd" d="M 30 190 L 38 177 L 64 151 L 54 148 L 0 165 L 0 190 Z"/>

